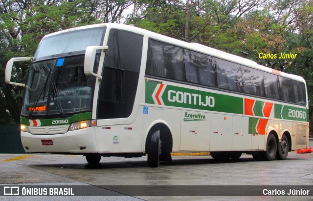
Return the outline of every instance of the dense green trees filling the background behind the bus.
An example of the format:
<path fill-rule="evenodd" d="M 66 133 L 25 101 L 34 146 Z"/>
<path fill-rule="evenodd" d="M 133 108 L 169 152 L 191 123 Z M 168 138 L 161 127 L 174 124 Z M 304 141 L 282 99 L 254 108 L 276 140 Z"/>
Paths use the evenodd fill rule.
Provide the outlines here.
<path fill-rule="evenodd" d="M 304 77 L 313 121 L 313 0 L 1 1 L 1 78 L 7 60 L 32 56 L 46 34 L 86 24 L 119 22 L 127 8 L 127 24 L 198 42 Z M 261 52 L 291 52 L 298 56 L 293 60 L 260 59 Z M 27 63 L 17 64 L 13 79 L 23 80 L 27 68 Z M 0 114 L 11 119 L 0 118 L 0 123 L 19 122 L 23 89 L 4 84 L 3 80 Z"/>

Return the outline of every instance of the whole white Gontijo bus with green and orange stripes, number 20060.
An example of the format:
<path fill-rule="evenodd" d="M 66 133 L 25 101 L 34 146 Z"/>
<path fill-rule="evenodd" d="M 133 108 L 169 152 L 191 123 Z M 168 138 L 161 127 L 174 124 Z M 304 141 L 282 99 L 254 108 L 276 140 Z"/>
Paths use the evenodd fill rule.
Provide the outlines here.
<path fill-rule="evenodd" d="M 31 61 L 25 84 L 16 61 Z M 140 157 L 175 152 L 215 159 L 284 160 L 307 148 L 305 80 L 197 43 L 121 24 L 45 36 L 34 57 L 13 58 L 7 83 L 25 86 L 26 152 Z"/>

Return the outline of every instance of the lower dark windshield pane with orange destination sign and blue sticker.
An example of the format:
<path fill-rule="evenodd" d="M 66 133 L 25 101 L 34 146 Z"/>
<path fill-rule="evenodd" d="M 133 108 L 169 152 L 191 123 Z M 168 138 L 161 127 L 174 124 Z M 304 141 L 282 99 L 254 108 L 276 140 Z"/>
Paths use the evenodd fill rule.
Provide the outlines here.
<path fill-rule="evenodd" d="M 22 115 L 66 115 L 90 111 L 94 83 L 95 77 L 84 74 L 84 55 L 32 63 Z"/>

